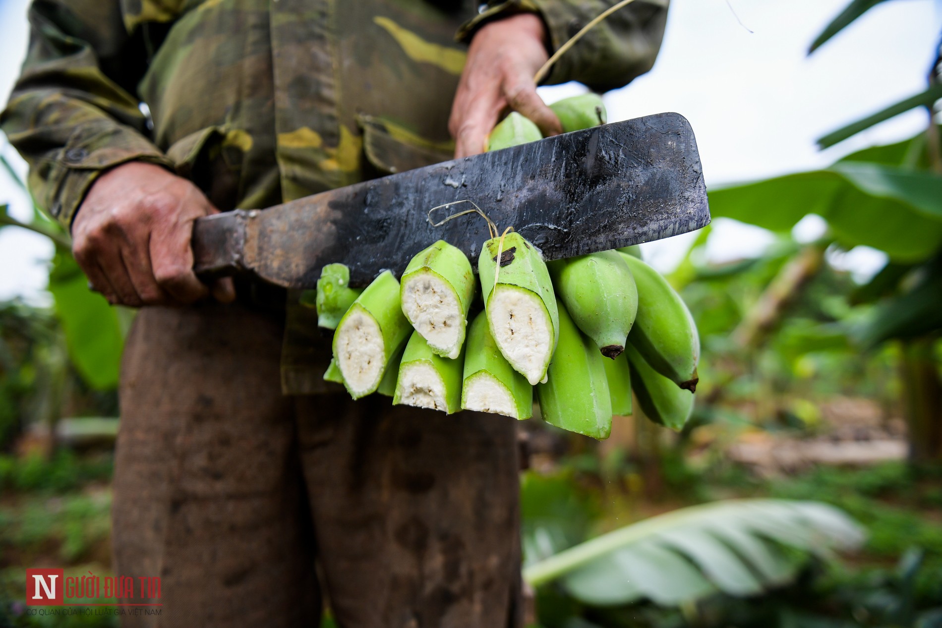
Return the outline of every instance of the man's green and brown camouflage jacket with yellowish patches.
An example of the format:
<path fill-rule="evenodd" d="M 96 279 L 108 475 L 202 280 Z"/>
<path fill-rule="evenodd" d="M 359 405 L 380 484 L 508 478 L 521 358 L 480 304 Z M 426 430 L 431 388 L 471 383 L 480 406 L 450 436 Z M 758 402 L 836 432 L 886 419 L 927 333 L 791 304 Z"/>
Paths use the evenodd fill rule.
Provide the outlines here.
<path fill-rule="evenodd" d="M 611 4 L 36 0 L 0 125 L 66 226 L 94 179 L 129 160 L 186 176 L 223 211 L 264 208 L 450 158 L 450 105 L 479 24 L 535 11 L 555 49 Z M 547 82 L 606 90 L 646 72 L 666 6 L 615 13 Z M 291 302 L 285 390 L 318 392 L 326 345 Z"/>

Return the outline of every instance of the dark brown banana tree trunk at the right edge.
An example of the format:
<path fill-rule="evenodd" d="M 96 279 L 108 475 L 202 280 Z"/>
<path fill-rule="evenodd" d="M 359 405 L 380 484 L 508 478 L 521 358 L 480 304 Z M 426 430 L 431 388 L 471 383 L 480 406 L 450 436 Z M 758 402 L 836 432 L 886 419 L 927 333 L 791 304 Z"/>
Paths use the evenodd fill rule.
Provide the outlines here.
<path fill-rule="evenodd" d="M 902 341 L 902 403 L 909 427 L 909 459 L 942 463 L 942 379 L 934 337 Z"/>

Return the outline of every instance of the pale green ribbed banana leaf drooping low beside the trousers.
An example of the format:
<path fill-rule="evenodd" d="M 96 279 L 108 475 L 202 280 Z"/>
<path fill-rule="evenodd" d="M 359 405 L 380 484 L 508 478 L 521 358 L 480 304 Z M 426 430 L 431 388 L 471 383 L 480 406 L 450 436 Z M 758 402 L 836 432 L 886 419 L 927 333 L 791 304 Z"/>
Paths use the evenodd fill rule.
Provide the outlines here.
<path fill-rule="evenodd" d="M 679 605 L 717 591 L 747 596 L 780 587 L 807 556 L 830 559 L 863 539 L 857 523 L 825 504 L 728 500 L 609 532 L 529 564 L 524 579 L 533 587 L 559 580 L 583 604 Z"/>

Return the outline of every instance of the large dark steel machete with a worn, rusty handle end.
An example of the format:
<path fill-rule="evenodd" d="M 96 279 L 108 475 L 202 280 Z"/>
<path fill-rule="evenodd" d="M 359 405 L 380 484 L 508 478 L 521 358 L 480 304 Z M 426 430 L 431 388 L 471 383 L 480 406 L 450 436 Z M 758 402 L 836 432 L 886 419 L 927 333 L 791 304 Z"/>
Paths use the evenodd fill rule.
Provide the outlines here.
<path fill-rule="evenodd" d="M 397 276 L 419 250 L 444 239 L 477 260 L 490 235 L 481 217 L 433 227 L 429 210 L 474 201 L 503 232 L 546 260 L 650 242 L 710 220 L 690 123 L 676 113 L 613 122 L 494 153 L 434 164 L 285 202 L 199 218 L 195 270 L 203 279 L 248 274 L 313 288 L 323 266 L 350 269 L 363 286 Z M 464 203 L 463 203 L 464 204 Z M 436 212 L 436 219 L 470 205 Z M 477 266 L 477 265 L 472 265 Z"/>

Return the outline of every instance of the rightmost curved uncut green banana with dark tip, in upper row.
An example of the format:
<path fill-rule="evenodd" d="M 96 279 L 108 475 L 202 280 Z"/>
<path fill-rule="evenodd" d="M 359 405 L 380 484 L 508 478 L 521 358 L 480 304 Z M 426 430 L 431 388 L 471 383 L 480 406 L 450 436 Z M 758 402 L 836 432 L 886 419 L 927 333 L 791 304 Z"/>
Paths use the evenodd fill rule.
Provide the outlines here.
<path fill-rule="evenodd" d="M 638 286 L 638 315 L 628 343 L 636 346 L 658 373 L 694 392 L 699 380 L 700 337 L 690 310 L 657 270 L 625 253 L 622 259 Z"/>

